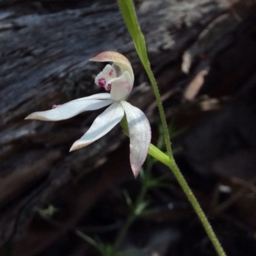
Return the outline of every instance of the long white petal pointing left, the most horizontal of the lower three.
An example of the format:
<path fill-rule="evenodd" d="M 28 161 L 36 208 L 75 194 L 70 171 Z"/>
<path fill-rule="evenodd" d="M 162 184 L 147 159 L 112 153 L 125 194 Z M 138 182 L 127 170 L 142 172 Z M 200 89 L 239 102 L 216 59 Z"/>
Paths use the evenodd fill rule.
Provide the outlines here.
<path fill-rule="evenodd" d="M 108 106 L 113 103 L 113 100 L 109 98 L 109 93 L 99 93 L 98 95 L 72 100 L 47 111 L 34 112 L 28 115 L 25 119 L 36 119 L 42 121 L 65 120 L 84 111 L 91 111 Z"/>

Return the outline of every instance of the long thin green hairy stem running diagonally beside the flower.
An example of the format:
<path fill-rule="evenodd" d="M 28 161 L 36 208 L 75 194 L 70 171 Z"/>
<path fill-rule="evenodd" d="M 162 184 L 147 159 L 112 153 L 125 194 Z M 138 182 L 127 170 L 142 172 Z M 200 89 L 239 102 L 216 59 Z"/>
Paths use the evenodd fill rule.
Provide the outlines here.
<path fill-rule="evenodd" d="M 134 4 L 132 0 L 118 0 L 118 6 L 120 8 L 120 11 L 122 12 L 127 29 L 129 30 L 129 33 L 132 36 L 135 49 L 138 52 L 138 56 L 140 57 L 141 63 L 143 64 L 143 67 L 147 72 L 148 78 L 150 79 L 150 83 L 152 84 L 154 94 L 156 96 L 159 115 L 163 125 L 164 141 L 165 141 L 167 155 L 168 155 L 168 159 L 166 159 L 166 157 L 163 156 L 161 160 L 162 162 L 164 161 L 167 166 L 169 166 L 169 168 L 172 170 L 173 174 L 175 175 L 176 179 L 178 180 L 181 188 L 184 190 L 184 193 L 186 193 L 186 196 L 188 196 L 188 200 L 189 202 L 191 202 L 191 205 L 195 209 L 195 212 L 198 215 L 198 218 L 200 219 L 200 221 L 202 222 L 202 225 L 204 226 L 205 231 L 207 232 L 209 238 L 211 239 L 216 252 L 220 256 L 225 256 L 226 254 L 223 248 L 221 247 L 221 244 L 218 241 L 218 238 L 214 234 L 214 231 L 212 230 L 212 227 L 209 221 L 207 220 L 204 212 L 202 211 L 202 208 L 198 204 L 198 201 L 193 195 L 191 189 L 188 186 L 188 183 L 184 179 L 182 173 L 180 172 L 173 158 L 172 148 L 170 144 L 170 136 L 168 132 L 168 125 L 164 115 L 163 103 L 161 101 L 161 96 L 157 87 L 156 79 L 154 78 L 154 75 L 150 68 L 150 62 L 147 56 L 147 47 L 145 43 L 145 38 L 143 36 L 143 33 L 141 32 L 140 24 L 138 23 L 138 20 L 136 17 Z M 152 150 L 152 147 L 150 148 Z"/>

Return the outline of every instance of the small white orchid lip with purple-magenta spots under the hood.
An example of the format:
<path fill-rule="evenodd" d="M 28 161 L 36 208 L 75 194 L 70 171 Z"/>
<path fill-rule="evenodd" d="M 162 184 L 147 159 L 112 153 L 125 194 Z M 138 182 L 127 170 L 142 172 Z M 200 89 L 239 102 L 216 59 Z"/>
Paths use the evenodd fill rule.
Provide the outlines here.
<path fill-rule="evenodd" d="M 95 84 L 100 87 L 104 87 L 107 91 L 111 88 L 113 79 L 116 78 L 116 70 L 111 65 L 106 65 L 102 72 L 95 77 Z"/>

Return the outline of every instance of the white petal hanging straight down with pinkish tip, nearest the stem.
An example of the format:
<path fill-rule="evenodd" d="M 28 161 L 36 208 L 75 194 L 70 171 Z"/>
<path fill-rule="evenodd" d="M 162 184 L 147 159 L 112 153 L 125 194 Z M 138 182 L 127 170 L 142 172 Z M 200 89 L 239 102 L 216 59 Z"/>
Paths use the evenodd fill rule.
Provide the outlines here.
<path fill-rule="evenodd" d="M 144 163 L 151 141 L 151 129 L 147 116 L 126 101 L 120 102 L 124 107 L 130 136 L 130 161 L 134 177 L 137 177 Z"/>

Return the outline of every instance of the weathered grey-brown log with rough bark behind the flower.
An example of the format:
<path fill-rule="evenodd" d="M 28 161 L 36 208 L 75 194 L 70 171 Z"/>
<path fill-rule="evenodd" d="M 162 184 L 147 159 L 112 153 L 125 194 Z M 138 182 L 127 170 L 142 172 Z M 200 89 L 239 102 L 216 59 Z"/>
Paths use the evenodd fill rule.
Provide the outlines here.
<path fill-rule="evenodd" d="M 137 78 L 130 102 L 149 118 L 156 109 L 116 4 L 76 4 L 0 1 L 0 244 L 20 237 L 36 207 L 106 161 L 124 139 L 116 129 L 70 154 L 68 148 L 97 113 L 58 123 L 24 120 L 33 111 L 99 92 L 93 77 L 103 66 L 89 58 L 106 50 L 125 54 Z M 255 2 L 152 0 L 137 3 L 137 10 L 152 67 L 168 99 L 171 89 L 185 84 L 198 92 L 192 82 L 199 79 L 200 84 L 202 70 L 234 44 Z M 189 76 L 182 70 L 191 70 Z M 188 88 L 184 97 L 191 100 Z"/>

